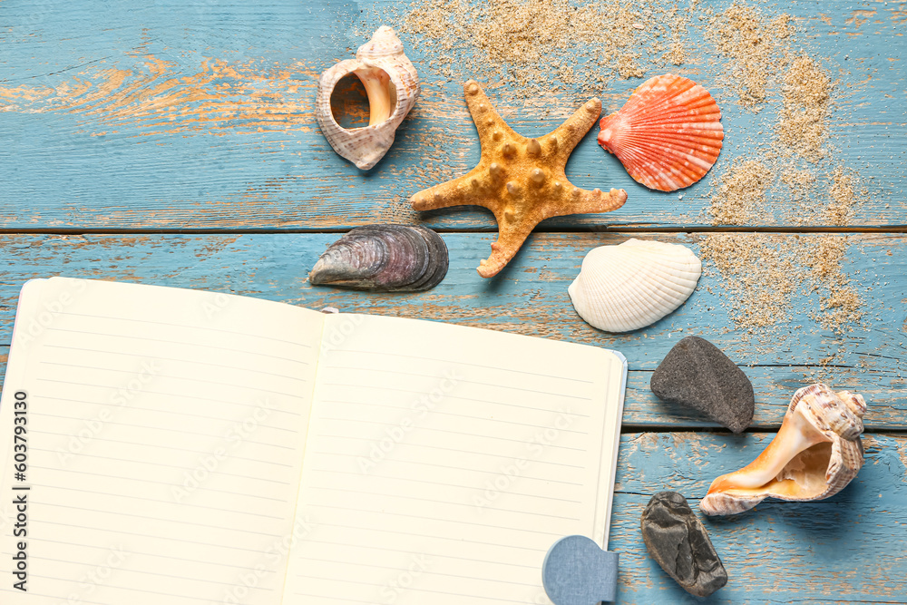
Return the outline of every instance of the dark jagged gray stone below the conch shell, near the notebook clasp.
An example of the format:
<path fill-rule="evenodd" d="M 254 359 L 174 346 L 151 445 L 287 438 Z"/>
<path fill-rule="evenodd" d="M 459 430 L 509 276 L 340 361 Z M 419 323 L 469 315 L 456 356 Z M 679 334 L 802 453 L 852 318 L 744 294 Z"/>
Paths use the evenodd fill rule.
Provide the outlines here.
<path fill-rule="evenodd" d="M 679 493 L 652 496 L 642 512 L 642 539 L 652 559 L 690 594 L 707 597 L 727 584 L 706 528 Z"/>

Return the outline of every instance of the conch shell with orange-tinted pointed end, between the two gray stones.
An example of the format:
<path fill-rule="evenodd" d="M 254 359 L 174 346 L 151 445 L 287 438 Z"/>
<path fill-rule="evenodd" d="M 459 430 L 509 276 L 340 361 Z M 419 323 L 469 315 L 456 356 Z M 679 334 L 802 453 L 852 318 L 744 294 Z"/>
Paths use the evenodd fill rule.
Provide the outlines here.
<path fill-rule="evenodd" d="M 863 466 L 863 395 L 821 383 L 794 394 L 772 443 L 751 464 L 712 482 L 699 508 L 744 512 L 766 497 L 822 500 L 844 489 Z"/>

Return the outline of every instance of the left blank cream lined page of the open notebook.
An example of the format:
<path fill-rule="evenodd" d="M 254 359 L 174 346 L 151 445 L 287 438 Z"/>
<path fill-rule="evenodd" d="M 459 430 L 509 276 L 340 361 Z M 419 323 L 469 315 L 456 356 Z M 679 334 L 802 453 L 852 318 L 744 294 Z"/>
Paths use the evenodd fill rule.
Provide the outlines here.
<path fill-rule="evenodd" d="M 281 602 L 322 315 L 222 294 L 29 283 L 0 431 L 28 492 L 28 593 L 5 605 Z M 11 477 L 15 392 L 28 471 Z M 5 454 L 5 455 L 4 455 Z"/>

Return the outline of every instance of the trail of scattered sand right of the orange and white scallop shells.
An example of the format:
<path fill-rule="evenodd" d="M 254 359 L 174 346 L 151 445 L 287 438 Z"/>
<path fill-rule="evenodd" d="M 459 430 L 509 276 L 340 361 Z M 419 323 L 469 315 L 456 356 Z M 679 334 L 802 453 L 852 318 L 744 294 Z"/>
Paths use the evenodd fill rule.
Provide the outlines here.
<path fill-rule="evenodd" d="M 727 81 L 743 107 L 760 112 L 780 105 L 766 117 L 773 138 L 756 145 L 759 159 L 733 161 L 713 182 L 712 223 L 847 225 L 855 176 L 841 166 L 824 178 L 814 170 L 830 155 L 834 84 L 819 61 L 792 54 L 790 17 L 737 2 L 710 14 L 705 34 L 727 59 Z M 727 289 L 731 321 L 746 334 L 767 341 L 788 329 L 798 319 L 791 315 L 794 301 L 815 309 L 809 318 L 838 334 L 863 317 L 862 300 L 842 268 L 843 236 L 722 233 L 704 236 L 700 245 Z"/>

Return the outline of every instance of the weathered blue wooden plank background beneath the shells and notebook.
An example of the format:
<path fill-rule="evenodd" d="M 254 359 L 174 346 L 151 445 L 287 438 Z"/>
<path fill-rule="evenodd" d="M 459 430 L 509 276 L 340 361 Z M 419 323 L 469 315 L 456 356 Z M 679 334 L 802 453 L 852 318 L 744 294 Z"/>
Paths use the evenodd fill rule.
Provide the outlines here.
<path fill-rule="evenodd" d="M 434 57 L 414 48 L 416 37 L 403 35 L 423 97 L 375 170 L 339 158 L 314 119 L 318 74 L 354 53 L 363 32 L 396 25 L 407 4 L 0 1 L 0 366 L 18 289 L 55 274 L 617 348 L 630 367 L 610 543 L 622 552 L 620 602 L 907 603 L 907 3 L 756 3 L 766 14 L 793 15 L 798 45 L 832 74 L 834 153 L 820 169 L 844 165 L 861 181 L 846 226 L 797 225 L 779 212 L 736 228 L 779 238 L 842 234 L 843 269 L 865 305 L 862 323 L 836 333 L 812 318 L 817 296 L 796 296 L 790 321 L 767 342 L 731 321 L 725 282 L 708 263 L 684 307 L 629 335 L 589 327 L 566 293 L 595 246 L 632 236 L 698 251 L 707 234 L 727 230 L 707 216 L 711 187 L 736 158 L 759 157 L 773 136 L 778 103 L 758 114 L 736 103 L 695 22 L 688 44 L 695 52 L 675 71 L 706 85 L 721 104 L 727 138 L 713 171 L 682 199 L 646 190 L 600 150 L 593 129 L 568 175 L 580 187 L 624 188 L 627 204 L 546 221 L 501 276 L 484 280 L 474 268 L 494 239 L 491 215 L 474 207 L 419 215 L 407 202 L 472 168 L 479 155 L 462 83 L 433 73 Z M 697 10 L 728 4 L 700 2 Z M 619 108 L 638 84 L 611 78 L 597 93 L 604 111 Z M 527 103 L 506 87 L 490 95 L 527 135 L 549 132 L 586 98 L 566 91 Z M 789 205 L 776 192 L 769 201 Z M 338 232 L 375 221 L 441 230 L 451 249 L 444 282 L 405 295 L 307 284 L 308 269 Z M 750 376 L 753 432 L 729 434 L 651 395 L 651 372 L 688 335 L 711 340 Z M 865 395 L 866 466 L 827 501 L 764 503 L 706 520 L 730 581 L 708 600 L 688 597 L 646 555 L 639 513 L 664 489 L 697 503 L 715 476 L 761 451 L 790 395 L 816 380 Z"/>

